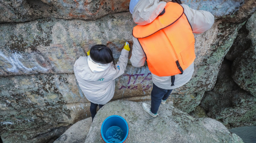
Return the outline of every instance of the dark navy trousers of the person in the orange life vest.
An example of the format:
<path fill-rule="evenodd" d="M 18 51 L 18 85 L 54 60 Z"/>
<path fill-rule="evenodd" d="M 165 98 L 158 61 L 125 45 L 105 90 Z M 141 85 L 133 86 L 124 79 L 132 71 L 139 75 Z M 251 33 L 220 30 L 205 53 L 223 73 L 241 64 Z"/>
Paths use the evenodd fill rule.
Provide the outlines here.
<path fill-rule="evenodd" d="M 157 114 L 158 108 L 162 100 L 168 99 L 171 94 L 172 89 L 162 89 L 158 88 L 153 83 L 153 89 L 151 91 L 151 112 Z"/>

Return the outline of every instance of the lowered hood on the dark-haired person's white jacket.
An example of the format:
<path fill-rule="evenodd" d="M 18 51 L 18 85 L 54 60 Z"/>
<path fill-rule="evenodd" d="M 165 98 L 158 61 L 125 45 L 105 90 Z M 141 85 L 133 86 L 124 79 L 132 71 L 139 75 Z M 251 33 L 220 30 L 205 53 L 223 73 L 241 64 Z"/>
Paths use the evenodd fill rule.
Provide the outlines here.
<path fill-rule="evenodd" d="M 80 57 L 74 64 L 74 68 L 76 68 L 77 75 L 83 80 L 97 81 L 104 76 L 104 71 L 110 67 L 110 63 L 108 66 L 102 68 L 100 65 L 97 66 L 97 63 L 93 65 L 89 64 L 90 61 L 88 61 L 88 58 L 90 58 L 90 56 Z M 90 67 L 92 67 L 92 69 Z"/>

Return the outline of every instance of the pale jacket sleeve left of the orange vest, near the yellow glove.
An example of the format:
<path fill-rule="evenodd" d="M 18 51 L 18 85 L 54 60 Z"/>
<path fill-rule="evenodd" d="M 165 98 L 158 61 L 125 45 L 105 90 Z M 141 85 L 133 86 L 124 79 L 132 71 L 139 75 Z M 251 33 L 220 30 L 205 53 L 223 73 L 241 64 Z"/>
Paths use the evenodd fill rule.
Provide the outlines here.
<path fill-rule="evenodd" d="M 138 41 L 137 38 L 133 37 L 133 46 L 132 46 L 132 57 L 130 57 L 130 62 L 134 67 L 144 66 L 146 55 Z"/>

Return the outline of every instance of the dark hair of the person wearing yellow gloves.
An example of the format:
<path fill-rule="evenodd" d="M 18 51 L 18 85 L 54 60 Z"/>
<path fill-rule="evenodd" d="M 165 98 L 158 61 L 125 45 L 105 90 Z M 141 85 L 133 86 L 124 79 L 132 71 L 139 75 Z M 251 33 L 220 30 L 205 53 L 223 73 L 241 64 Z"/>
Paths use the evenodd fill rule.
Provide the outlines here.
<path fill-rule="evenodd" d="M 107 64 L 113 61 L 114 67 L 115 61 L 111 49 L 104 44 L 96 44 L 90 49 L 90 57 L 96 63 Z"/>

